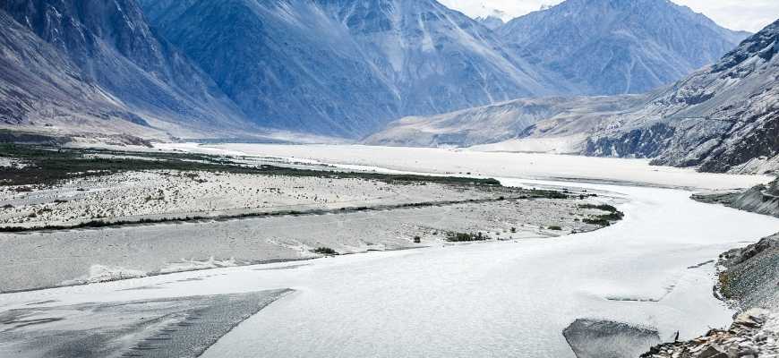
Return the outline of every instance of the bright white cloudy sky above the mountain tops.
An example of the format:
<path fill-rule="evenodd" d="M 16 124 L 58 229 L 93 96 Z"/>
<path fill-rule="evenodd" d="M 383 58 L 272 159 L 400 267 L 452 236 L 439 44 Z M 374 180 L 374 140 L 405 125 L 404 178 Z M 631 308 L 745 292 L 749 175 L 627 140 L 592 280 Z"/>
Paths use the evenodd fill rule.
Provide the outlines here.
<path fill-rule="evenodd" d="M 543 5 L 560 4 L 561 0 L 439 0 L 442 4 L 477 17 L 500 10 L 504 20 L 539 10 Z M 672 0 L 731 30 L 756 32 L 779 18 L 779 0 Z"/>

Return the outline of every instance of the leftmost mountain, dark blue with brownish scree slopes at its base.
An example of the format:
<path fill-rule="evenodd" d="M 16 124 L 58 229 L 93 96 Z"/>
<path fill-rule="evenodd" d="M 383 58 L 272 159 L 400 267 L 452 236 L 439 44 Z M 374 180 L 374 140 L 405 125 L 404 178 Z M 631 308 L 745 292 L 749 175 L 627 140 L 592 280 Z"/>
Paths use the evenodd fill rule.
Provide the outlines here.
<path fill-rule="evenodd" d="M 4 70 L 0 100 L 2 112 L 11 114 L 5 122 L 61 117 L 62 130 L 73 132 L 84 129 L 79 117 L 118 117 L 145 127 L 141 133 L 192 136 L 247 128 L 240 110 L 158 38 L 133 0 L 6 0 L 0 12 L 4 65 L 29 74 Z M 70 113 L 46 114 L 38 105 Z M 139 133 L 115 124 L 90 122 L 98 132 Z"/>

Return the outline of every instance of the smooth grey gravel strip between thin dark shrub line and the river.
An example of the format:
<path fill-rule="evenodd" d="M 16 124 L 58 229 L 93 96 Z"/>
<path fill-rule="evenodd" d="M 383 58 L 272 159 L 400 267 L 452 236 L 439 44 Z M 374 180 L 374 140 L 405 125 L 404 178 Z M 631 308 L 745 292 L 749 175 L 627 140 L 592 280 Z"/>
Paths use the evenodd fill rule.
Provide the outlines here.
<path fill-rule="evenodd" d="M 592 231 L 592 200 L 518 199 L 429 207 L 0 233 L 0 292 L 449 243 L 454 233 L 487 240 Z"/>

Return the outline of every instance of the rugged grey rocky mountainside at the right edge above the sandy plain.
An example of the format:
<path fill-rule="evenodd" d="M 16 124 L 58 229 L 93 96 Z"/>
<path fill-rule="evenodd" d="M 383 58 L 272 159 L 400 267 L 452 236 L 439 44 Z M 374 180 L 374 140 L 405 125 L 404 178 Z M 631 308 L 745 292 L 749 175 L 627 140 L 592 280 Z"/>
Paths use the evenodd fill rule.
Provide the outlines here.
<path fill-rule="evenodd" d="M 716 64 L 661 91 L 641 110 L 612 118 L 588 155 L 641 154 L 616 145 L 666 128 L 651 142 L 654 163 L 710 172 L 779 169 L 779 21 L 744 40 Z"/>

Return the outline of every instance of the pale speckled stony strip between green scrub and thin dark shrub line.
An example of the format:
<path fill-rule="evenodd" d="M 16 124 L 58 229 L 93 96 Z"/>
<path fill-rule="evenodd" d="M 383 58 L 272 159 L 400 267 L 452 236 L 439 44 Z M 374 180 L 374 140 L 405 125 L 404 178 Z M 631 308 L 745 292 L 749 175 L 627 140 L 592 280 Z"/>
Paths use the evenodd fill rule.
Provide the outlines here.
<path fill-rule="evenodd" d="M 480 200 L 509 195 L 504 189 L 392 184 L 363 178 L 127 171 L 76 177 L 46 186 L 0 186 L 0 226 Z"/>

